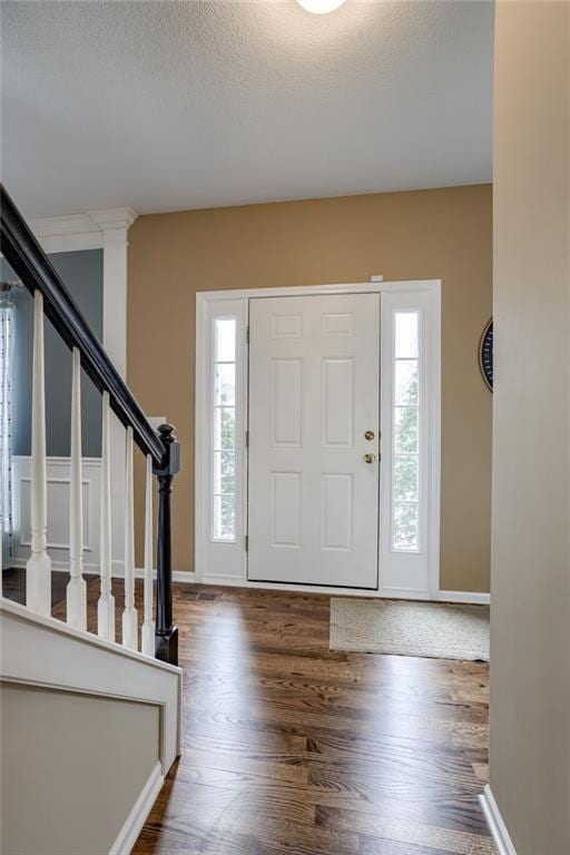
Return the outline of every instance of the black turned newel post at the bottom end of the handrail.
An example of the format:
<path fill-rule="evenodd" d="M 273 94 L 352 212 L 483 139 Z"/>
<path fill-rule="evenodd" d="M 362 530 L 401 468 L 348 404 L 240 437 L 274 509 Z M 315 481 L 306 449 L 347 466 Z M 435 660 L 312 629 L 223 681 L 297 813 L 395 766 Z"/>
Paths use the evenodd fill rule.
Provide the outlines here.
<path fill-rule="evenodd" d="M 156 657 L 165 662 L 178 665 L 178 629 L 173 623 L 170 497 L 174 476 L 180 469 L 180 446 L 171 424 L 161 424 L 158 434 L 165 453 L 160 464 L 153 469 L 158 479 Z"/>

